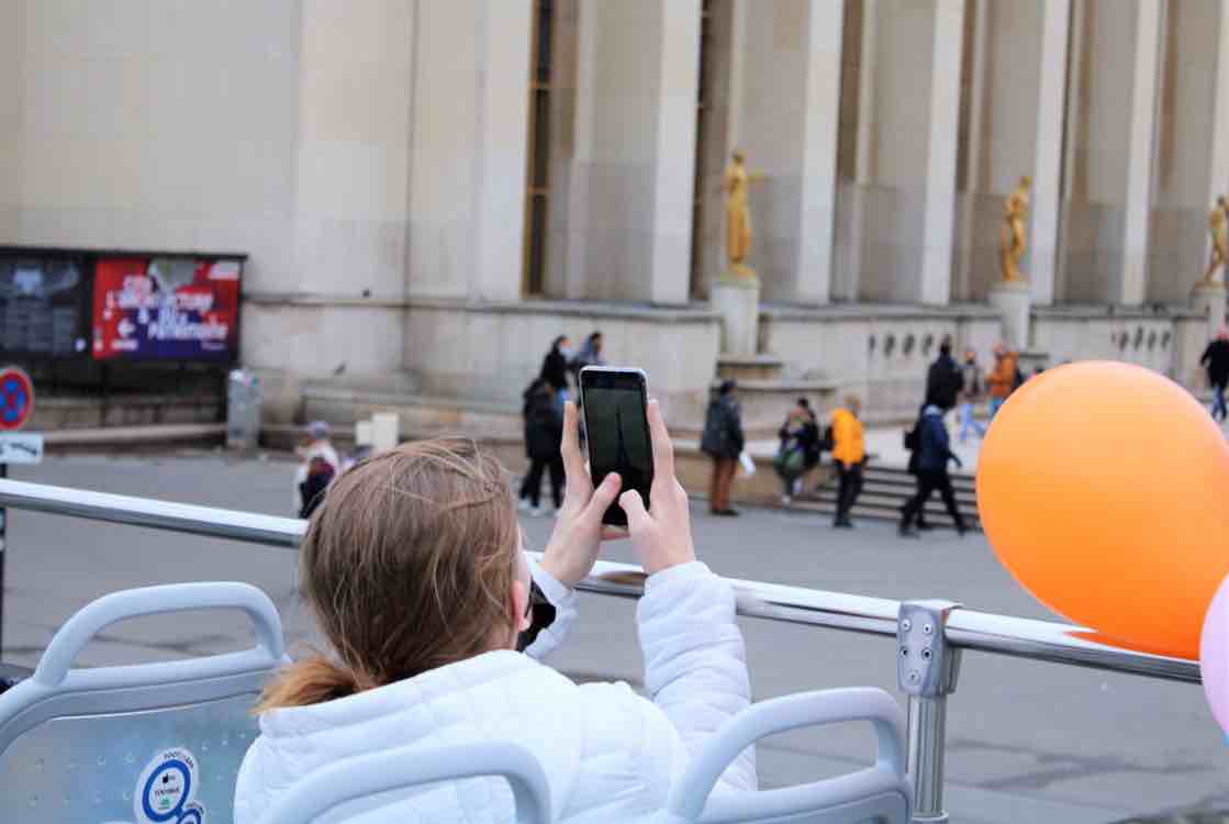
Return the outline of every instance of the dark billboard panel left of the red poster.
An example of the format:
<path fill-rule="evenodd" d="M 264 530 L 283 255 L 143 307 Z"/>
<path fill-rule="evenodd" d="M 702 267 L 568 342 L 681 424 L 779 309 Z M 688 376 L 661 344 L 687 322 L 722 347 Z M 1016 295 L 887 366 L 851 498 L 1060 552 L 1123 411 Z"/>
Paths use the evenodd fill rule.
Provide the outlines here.
<path fill-rule="evenodd" d="M 0 251 L 0 353 L 71 358 L 87 351 L 80 256 Z"/>

